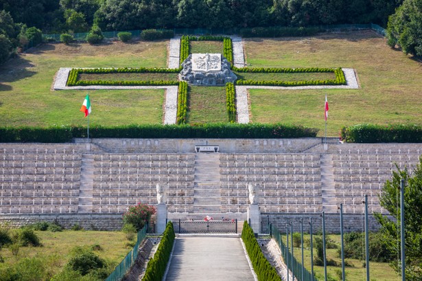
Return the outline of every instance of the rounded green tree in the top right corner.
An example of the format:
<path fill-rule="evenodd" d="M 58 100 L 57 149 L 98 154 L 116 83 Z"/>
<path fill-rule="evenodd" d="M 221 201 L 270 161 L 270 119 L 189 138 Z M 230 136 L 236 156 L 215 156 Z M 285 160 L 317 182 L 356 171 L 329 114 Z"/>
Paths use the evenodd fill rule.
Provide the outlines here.
<path fill-rule="evenodd" d="M 388 19 L 388 45 L 422 56 L 422 0 L 405 0 Z"/>

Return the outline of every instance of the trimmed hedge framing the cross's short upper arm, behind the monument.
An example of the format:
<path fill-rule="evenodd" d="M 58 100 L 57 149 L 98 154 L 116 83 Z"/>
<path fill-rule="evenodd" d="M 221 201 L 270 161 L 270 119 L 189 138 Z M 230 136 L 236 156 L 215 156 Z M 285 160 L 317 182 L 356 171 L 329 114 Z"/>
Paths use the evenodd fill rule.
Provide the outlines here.
<path fill-rule="evenodd" d="M 228 36 L 194 36 L 194 35 L 183 35 L 180 39 L 180 64 L 184 62 L 190 53 L 190 41 L 223 41 L 223 56 L 233 64 L 233 42 Z"/>

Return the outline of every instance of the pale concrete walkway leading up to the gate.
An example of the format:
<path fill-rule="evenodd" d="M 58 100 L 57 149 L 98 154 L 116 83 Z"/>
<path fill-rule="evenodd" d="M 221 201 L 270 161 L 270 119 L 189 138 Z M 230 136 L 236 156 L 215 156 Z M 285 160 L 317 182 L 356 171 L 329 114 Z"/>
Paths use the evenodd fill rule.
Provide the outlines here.
<path fill-rule="evenodd" d="M 255 280 L 239 238 L 178 237 L 166 280 Z"/>

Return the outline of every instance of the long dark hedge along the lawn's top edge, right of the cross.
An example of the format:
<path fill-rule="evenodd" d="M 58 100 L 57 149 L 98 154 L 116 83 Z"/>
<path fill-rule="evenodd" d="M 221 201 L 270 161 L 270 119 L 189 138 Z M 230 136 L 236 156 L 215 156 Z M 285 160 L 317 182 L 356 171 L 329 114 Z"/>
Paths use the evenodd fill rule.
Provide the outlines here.
<path fill-rule="evenodd" d="M 311 36 L 318 32 L 320 32 L 318 27 L 253 27 L 240 29 L 240 36 L 245 38 Z"/>

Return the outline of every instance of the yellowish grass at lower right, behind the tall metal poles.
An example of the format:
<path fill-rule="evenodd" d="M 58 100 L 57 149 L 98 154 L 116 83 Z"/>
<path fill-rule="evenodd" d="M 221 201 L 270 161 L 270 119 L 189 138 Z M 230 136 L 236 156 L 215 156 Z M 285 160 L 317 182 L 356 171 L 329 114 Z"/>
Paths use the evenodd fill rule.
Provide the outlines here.
<path fill-rule="evenodd" d="M 314 236 L 315 237 L 315 236 Z M 327 235 L 328 239 L 336 241 L 338 247 L 340 247 L 340 235 Z M 290 236 L 289 236 L 290 239 Z M 304 241 L 306 239 L 309 240 L 309 234 L 303 235 Z M 285 241 L 285 235 L 283 236 L 283 242 Z M 289 247 L 291 247 L 289 241 Z M 315 244 L 314 244 L 315 247 Z M 327 274 L 329 274 L 333 280 L 340 280 L 338 279 L 338 275 L 336 271 L 338 269 L 342 269 L 341 267 L 341 258 L 338 257 L 337 249 L 327 249 L 327 260 L 333 259 L 339 265 L 338 267 L 327 266 Z M 302 262 L 301 256 L 301 247 L 294 248 L 294 257 L 298 262 Z M 314 257 L 316 256 L 316 249 L 314 248 Z M 303 260 L 305 267 L 311 272 L 311 250 L 309 247 L 305 247 L 303 250 Z M 349 262 L 351 267 L 345 267 L 346 272 L 346 280 L 347 281 L 362 281 L 366 280 L 366 268 L 363 267 L 364 260 L 355 260 L 353 258 L 346 258 L 346 262 Z M 377 281 L 392 281 L 392 280 L 401 280 L 397 273 L 388 265 L 387 262 L 369 262 L 369 269 L 370 269 L 370 277 L 371 280 Z M 314 272 L 318 277 L 318 280 L 324 280 L 324 267 L 314 265 Z"/>

